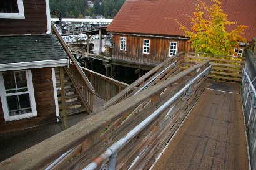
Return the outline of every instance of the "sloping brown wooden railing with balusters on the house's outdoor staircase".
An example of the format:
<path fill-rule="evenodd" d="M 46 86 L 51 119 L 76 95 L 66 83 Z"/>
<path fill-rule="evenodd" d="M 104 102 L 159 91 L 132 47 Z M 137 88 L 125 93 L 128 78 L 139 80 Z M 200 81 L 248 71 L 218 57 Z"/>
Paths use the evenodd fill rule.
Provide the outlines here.
<path fill-rule="evenodd" d="M 69 67 L 65 67 L 66 73 L 71 78 L 72 84 L 76 88 L 76 92 L 81 98 L 83 105 L 86 106 L 87 111 L 91 113 L 93 111 L 94 88 L 82 71 L 81 67 L 77 64 L 75 57 L 72 55 L 54 24 L 52 24 L 52 32 L 56 35 L 67 56 L 69 57 Z"/>

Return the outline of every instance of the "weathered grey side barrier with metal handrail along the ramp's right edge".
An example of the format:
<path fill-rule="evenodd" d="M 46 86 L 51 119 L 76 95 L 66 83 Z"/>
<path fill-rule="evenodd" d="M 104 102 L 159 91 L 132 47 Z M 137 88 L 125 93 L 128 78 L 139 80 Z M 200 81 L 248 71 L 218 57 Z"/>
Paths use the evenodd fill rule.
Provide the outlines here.
<path fill-rule="evenodd" d="M 242 73 L 242 102 L 247 126 L 250 163 L 252 169 L 256 169 L 256 90 L 245 69 Z"/>

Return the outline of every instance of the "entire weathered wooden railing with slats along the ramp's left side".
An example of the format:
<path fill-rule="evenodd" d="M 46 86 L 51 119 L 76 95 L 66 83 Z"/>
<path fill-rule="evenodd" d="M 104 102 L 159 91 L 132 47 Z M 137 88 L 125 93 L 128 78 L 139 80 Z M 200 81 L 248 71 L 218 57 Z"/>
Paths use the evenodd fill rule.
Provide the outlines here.
<path fill-rule="evenodd" d="M 205 61 L 195 67 L 187 68 L 142 90 L 137 95 L 122 100 L 26 151 L 2 161 L 0 169 L 45 169 L 70 149 L 71 152 L 52 169 L 82 169 L 169 100 L 180 87 L 208 65 L 209 61 Z M 141 154 L 140 161 L 135 163 L 132 169 L 149 168 L 199 98 L 204 90 L 205 79 L 206 77 L 201 77 L 194 82 L 190 95 L 182 93 L 183 95 L 119 151 L 117 169 L 129 168 L 139 154 Z M 148 104 L 140 107 L 144 102 Z M 134 111 L 135 114 L 126 116 L 127 113 L 134 113 Z M 107 127 L 120 118 L 124 118 L 121 124 L 108 131 Z"/>

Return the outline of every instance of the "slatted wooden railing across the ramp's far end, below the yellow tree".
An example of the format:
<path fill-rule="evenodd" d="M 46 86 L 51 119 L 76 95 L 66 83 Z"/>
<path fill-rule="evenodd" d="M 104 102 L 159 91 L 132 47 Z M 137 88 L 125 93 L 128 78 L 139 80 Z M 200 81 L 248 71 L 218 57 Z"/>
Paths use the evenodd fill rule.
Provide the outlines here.
<path fill-rule="evenodd" d="M 242 68 L 245 65 L 245 57 L 184 52 L 185 66 L 198 64 L 204 60 L 210 60 L 210 64 L 213 65 L 209 78 L 232 82 L 242 81 Z"/>

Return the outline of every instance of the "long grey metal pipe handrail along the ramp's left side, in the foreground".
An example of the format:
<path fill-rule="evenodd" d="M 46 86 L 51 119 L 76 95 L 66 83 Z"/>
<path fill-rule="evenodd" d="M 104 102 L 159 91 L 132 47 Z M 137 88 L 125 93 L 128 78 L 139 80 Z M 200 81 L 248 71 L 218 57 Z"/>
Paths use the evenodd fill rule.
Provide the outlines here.
<path fill-rule="evenodd" d="M 127 133 L 127 135 L 124 136 L 124 138 L 122 138 L 119 141 L 117 141 L 116 143 L 112 144 L 112 146 L 110 146 L 103 154 L 101 154 L 101 156 L 96 158 L 92 163 L 90 163 L 88 166 L 86 166 L 86 168 L 84 168 L 82 170 L 94 170 L 99 166 L 99 164 L 97 164 L 97 163 L 103 163 L 108 158 L 111 158 L 111 156 L 112 156 L 112 158 L 111 158 L 112 160 L 109 160 L 109 162 L 116 163 L 117 151 L 122 146 L 124 146 L 124 144 L 126 144 L 127 141 L 134 138 L 134 136 L 137 135 L 140 132 L 140 130 L 142 130 L 145 126 L 149 125 L 149 123 L 152 120 L 154 120 L 154 118 L 156 118 L 158 115 L 160 115 L 160 113 L 162 113 L 162 111 L 165 110 L 165 108 L 167 108 L 167 106 L 169 106 L 170 103 L 174 102 L 174 100 L 177 99 L 182 93 L 184 93 L 185 90 L 187 90 L 187 88 L 189 88 L 199 77 L 201 77 L 202 75 L 205 75 L 204 73 L 207 72 L 211 67 L 212 67 L 212 64 L 209 67 L 205 68 L 205 70 L 203 70 L 201 73 L 199 73 L 199 75 L 197 75 L 195 78 L 193 78 L 189 83 L 187 83 L 187 85 L 185 85 L 185 87 L 183 87 L 181 90 L 179 90 L 179 92 L 177 92 L 173 97 L 171 97 L 169 100 L 167 100 L 167 102 L 165 102 L 162 106 L 160 106 L 157 110 L 155 110 L 150 116 L 145 118 L 145 120 L 142 121 L 139 125 L 137 125 L 133 130 L 131 130 L 129 133 Z M 114 159 L 114 161 L 113 161 L 113 159 Z M 109 170 L 114 170 L 115 168 L 111 169 L 113 167 L 114 167 L 113 164 L 110 164 Z"/>

